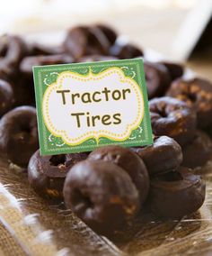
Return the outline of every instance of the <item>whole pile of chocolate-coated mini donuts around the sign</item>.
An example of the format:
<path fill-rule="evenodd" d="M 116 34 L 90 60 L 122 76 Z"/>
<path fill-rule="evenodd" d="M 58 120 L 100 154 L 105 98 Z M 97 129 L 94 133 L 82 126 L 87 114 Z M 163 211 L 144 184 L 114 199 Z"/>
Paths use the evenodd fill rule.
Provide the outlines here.
<path fill-rule="evenodd" d="M 144 57 L 154 144 L 40 156 L 32 66 Z M 76 26 L 61 45 L 0 37 L 0 151 L 28 169 L 31 187 L 98 233 L 123 228 L 145 207 L 179 219 L 202 206 L 205 182 L 192 169 L 212 155 L 212 84 L 183 77 L 177 63 L 151 62 L 106 25 Z"/>

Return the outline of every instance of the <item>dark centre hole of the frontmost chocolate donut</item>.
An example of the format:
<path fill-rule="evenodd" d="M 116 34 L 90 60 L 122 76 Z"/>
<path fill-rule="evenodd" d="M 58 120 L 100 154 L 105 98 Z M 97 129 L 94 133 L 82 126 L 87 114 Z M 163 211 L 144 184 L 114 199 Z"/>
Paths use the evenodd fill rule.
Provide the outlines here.
<path fill-rule="evenodd" d="M 78 188 L 75 188 L 72 192 L 72 204 L 77 208 L 77 211 L 94 208 L 90 197 Z"/>

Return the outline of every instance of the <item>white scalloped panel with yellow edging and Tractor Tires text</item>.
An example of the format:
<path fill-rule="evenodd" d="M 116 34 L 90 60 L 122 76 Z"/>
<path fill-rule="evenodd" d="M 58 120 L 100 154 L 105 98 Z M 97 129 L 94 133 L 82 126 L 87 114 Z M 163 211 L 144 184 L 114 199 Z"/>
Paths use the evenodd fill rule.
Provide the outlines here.
<path fill-rule="evenodd" d="M 45 91 L 42 114 L 49 132 L 69 145 L 100 137 L 124 141 L 142 121 L 144 99 L 119 68 L 85 76 L 66 71 Z"/>

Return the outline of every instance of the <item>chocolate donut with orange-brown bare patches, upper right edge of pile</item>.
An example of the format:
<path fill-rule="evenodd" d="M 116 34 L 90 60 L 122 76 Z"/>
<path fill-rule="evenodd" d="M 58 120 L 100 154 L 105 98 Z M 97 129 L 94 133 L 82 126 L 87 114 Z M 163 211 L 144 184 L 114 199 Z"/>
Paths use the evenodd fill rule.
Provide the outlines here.
<path fill-rule="evenodd" d="M 172 83 L 167 96 L 179 98 L 192 105 L 198 114 L 198 126 L 212 124 L 212 84 L 202 78 L 178 79 Z"/>

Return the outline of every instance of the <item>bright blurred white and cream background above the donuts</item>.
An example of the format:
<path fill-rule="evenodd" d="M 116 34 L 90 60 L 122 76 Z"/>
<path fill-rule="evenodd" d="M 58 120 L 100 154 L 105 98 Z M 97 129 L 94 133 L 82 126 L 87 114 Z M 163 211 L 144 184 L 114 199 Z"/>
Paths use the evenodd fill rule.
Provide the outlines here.
<path fill-rule="evenodd" d="M 212 0 L 0 0 L 0 34 L 32 35 L 55 43 L 75 24 L 108 23 L 137 45 L 178 59 L 173 46 L 183 46 L 177 40 L 181 27 L 195 6 L 206 3 Z"/>

